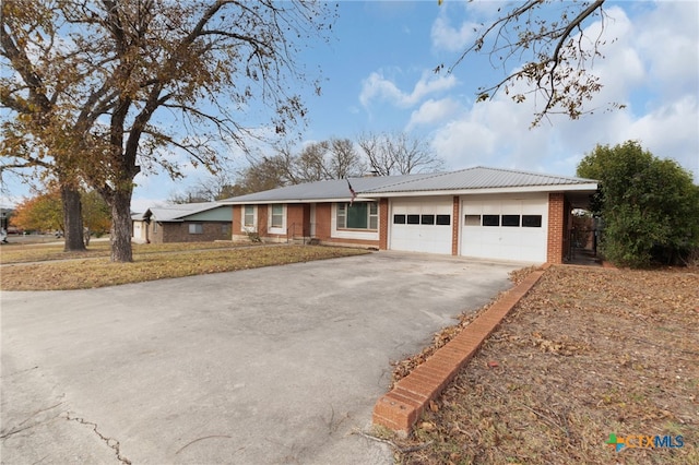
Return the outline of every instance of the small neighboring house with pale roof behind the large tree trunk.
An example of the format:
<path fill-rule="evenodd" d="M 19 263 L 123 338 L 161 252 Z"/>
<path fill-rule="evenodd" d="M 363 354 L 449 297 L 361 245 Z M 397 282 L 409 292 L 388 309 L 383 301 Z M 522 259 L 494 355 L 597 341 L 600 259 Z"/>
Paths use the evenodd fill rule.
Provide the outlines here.
<path fill-rule="evenodd" d="M 154 206 L 131 216 L 137 242 L 230 240 L 232 212 L 218 202 Z"/>

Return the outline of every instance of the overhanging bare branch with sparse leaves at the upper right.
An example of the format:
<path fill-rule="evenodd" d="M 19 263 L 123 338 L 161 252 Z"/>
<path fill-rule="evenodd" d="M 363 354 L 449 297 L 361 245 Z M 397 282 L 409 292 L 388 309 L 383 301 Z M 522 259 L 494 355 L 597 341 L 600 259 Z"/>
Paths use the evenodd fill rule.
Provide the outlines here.
<path fill-rule="evenodd" d="M 532 126 L 552 114 L 577 119 L 588 112 L 585 100 L 602 88 L 599 79 L 589 72 L 592 65 L 589 60 L 602 56 L 602 37 L 592 39 L 589 46 L 584 44 L 583 24 L 600 17 L 604 31 L 605 0 L 564 2 L 559 17 L 548 20 L 545 9 L 552 3 L 556 1 L 528 0 L 506 11 L 478 33 L 447 72 L 453 72 L 469 55 L 485 52 L 494 65 L 498 63 L 503 69 L 505 78 L 478 88 L 478 102 L 493 99 L 499 92 L 511 94 L 517 103 L 526 100 L 528 96 L 542 96 L 543 107 L 535 110 Z M 540 10 L 543 12 L 537 15 Z M 509 65 L 513 70 L 508 69 Z M 443 65 L 439 65 L 435 71 L 442 69 Z M 519 81 L 526 83 L 524 91 L 518 91 Z M 621 107 L 615 103 L 609 106 Z"/>

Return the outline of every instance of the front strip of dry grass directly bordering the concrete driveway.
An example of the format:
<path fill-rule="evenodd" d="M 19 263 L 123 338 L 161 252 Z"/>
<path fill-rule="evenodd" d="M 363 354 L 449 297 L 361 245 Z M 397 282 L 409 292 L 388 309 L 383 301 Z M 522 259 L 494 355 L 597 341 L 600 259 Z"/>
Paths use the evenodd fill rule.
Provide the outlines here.
<path fill-rule="evenodd" d="M 134 249 L 135 250 L 135 249 Z M 232 272 L 368 253 L 320 246 L 271 246 L 206 251 L 135 253 L 133 263 L 107 258 L 2 267 L 2 290 L 85 289 L 171 277 Z"/>

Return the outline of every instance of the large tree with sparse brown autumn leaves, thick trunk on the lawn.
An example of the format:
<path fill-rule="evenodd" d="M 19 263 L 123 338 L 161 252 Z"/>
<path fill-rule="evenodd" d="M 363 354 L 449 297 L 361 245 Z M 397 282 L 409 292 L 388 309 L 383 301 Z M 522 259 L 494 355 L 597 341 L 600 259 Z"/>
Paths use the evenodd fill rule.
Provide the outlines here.
<path fill-rule="evenodd" d="M 328 33 L 332 9 L 304 0 L 5 0 L 0 64 L 14 74 L 0 76 L 12 111 L 3 152 L 50 159 L 61 186 L 96 189 L 111 211 L 111 260 L 130 262 L 135 176 L 159 167 L 181 177 L 185 158 L 216 171 L 221 154 L 246 150 L 260 128 L 288 135 L 307 112 L 288 85 L 306 82 L 297 53 Z"/>

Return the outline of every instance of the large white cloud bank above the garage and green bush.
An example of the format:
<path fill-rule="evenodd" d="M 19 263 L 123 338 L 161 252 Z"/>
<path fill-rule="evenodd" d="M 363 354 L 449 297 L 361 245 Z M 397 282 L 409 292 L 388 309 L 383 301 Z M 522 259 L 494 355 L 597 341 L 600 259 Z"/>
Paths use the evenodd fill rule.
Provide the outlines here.
<path fill-rule="evenodd" d="M 605 24 L 605 58 L 597 59 L 593 70 L 604 87 L 585 106 L 595 109 L 593 115 L 573 121 L 552 116 L 550 123 L 545 120 L 530 130 L 534 102 L 513 104 L 498 94 L 436 131 L 437 153 L 454 169 L 487 165 L 574 175 L 596 144 L 637 140 L 655 156 L 676 159 L 699 181 L 698 33 L 696 21 L 694 29 L 687 26 L 698 7 L 656 7 L 640 20 L 618 8 L 609 10 L 614 21 Z M 594 34 L 595 27 L 587 33 Z M 668 69 L 672 62 L 682 75 Z M 603 111 L 611 102 L 628 108 Z"/>

